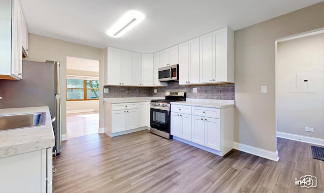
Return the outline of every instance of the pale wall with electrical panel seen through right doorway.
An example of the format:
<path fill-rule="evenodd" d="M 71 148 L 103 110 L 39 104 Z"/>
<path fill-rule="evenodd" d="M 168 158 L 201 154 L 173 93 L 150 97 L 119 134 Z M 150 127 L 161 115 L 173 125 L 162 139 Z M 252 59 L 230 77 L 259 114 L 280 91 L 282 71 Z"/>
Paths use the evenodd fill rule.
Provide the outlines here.
<path fill-rule="evenodd" d="M 276 75 L 277 131 L 323 139 L 324 33 L 278 42 Z"/>

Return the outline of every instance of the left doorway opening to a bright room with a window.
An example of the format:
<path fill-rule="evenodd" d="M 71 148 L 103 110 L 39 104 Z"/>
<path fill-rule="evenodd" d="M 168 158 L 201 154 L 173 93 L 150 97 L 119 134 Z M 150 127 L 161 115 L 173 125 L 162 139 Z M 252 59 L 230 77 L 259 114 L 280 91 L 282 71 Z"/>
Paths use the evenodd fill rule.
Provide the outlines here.
<path fill-rule="evenodd" d="M 66 134 L 98 133 L 99 61 L 66 57 Z"/>

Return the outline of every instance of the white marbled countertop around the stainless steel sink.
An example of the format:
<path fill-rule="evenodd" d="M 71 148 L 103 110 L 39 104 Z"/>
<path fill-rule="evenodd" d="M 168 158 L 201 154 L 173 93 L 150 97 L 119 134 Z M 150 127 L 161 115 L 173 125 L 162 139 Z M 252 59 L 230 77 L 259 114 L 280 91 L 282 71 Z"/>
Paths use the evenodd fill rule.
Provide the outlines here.
<path fill-rule="evenodd" d="M 37 112 L 46 112 L 45 125 L 0 131 L 0 158 L 55 146 L 55 137 L 48 107 L 0 109 L 0 115 Z"/>

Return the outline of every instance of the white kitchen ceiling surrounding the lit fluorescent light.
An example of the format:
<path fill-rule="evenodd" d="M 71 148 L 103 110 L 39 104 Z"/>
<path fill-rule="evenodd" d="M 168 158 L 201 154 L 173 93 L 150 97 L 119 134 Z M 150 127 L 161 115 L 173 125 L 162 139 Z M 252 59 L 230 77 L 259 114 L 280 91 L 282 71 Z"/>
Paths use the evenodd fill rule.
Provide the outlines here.
<path fill-rule="evenodd" d="M 229 26 L 241 29 L 323 0 L 21 0 L 29 33 L 104 48 L 154 53 Z M 146 18 L 124 36 L 106 31 L 127 11 Z"/>

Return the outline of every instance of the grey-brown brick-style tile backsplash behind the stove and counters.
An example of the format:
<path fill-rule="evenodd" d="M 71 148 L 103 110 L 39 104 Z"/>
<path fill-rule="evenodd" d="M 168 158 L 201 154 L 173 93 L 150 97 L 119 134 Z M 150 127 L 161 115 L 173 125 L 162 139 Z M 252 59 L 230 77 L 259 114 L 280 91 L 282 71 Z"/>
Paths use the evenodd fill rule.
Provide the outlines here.
<path fill-rule="evenodd" d="M 164 97 L 167 91 L 185 91 L 187 98 L 192 99 L 234 100 L 235 87 L 234 83 L 179 85 L 179 82 L 169 82 L 167 87 L 104 86 L 104 88 L 109 88 L 109 93 L 104 93 L 104 98 Z M 192 88 L 197 88 L 197 93 L 193 93 Z M 157 93 L 154 93 L 154 89 L 157 89 Z"/>

